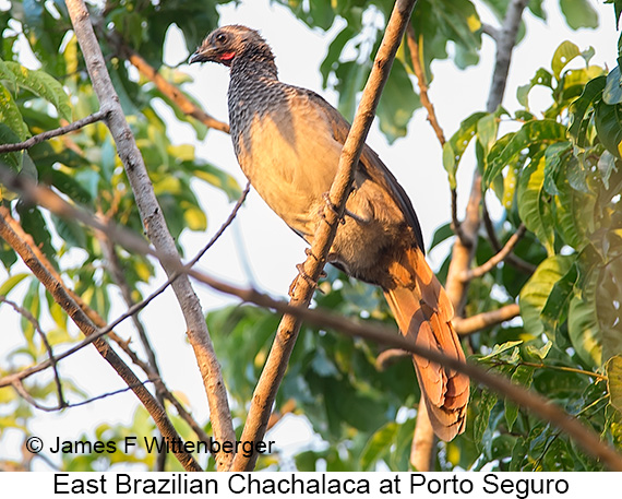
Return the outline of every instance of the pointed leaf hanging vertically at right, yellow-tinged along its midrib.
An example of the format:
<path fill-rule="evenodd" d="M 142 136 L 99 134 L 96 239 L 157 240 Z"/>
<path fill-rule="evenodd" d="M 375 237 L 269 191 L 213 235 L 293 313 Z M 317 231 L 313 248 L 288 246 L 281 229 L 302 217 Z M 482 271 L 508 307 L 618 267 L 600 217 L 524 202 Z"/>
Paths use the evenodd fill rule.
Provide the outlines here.
<path fill-rule="evenodd" d="M 533 159 L 518 180 L 518 215 L 525 226 L 531 230 L 547 249 L 549 256 L 553 248 L 553 217 L 545 192 L 545 158 Z"/>

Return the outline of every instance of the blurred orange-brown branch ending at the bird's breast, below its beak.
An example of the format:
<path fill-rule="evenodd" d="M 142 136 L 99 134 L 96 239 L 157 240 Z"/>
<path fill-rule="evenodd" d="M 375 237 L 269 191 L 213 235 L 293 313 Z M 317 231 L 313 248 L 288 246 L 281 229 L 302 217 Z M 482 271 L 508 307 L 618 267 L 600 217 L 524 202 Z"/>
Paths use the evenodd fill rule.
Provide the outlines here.
<path fill-rule="evenodd" d="M 213 116 L 205 112 L 203 109 L 192 103 L 183 93 L 172 83 L 168 82 L 155 68 L 153 68 L 140 54 L 132 50 L 123 40 L 119 33 L 112 33 L 108 36 L 116 47 L 117 52 L 123 58 L 128 59 L 145 78 L 154 82 L 156 87 L 166 95 L 172 103 L 175 103 L 182 112 L 193 118 L 196 118 L 203 124 L 210 128 L 220 130 L 222 132 L 229 133 L 229 126 L 223 121 L 217 120 Z"/>

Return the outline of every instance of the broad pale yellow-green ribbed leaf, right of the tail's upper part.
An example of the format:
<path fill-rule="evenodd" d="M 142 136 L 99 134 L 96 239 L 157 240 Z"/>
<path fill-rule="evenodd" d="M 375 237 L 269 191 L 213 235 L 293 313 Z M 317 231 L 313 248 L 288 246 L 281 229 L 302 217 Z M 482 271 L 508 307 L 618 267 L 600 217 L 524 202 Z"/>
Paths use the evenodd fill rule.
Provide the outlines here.
<path fill-rule="evenodd" d="M 534 275 L 523 286 L 518 304 L 525 330 L 530 335 L 539 336 L 545 332 L 540 313 L 553 286 L 566 274 L 575 259 L 574 256 L 555 254 L 549 257 L 538 265 Z"/>

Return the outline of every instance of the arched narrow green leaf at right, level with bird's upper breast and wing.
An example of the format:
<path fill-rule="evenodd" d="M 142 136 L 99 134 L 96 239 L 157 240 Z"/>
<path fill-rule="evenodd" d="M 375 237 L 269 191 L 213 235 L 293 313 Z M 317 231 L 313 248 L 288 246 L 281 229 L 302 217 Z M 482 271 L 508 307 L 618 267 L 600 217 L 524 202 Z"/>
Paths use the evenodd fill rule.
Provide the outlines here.
<path fill-rule="evenodd" d="M 483 171 L 482 183 L 485 188 L 490 186 L 494 177 L 501 174 L 511 159 L 523 150 L 542 142 L 559 142 L 566 138 L 566 128 L 555 120 L 543 119 L 525 123 L 521 130 L 512 135 L 500 154 L 493 150 L 488 155 L 487 168 Z"/>

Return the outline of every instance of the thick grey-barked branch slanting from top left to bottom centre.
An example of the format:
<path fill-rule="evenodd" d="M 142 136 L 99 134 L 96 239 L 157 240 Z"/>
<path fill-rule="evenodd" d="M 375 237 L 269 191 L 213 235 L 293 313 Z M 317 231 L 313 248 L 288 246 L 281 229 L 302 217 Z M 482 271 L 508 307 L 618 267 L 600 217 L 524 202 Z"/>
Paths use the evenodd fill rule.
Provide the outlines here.
<path fill-rule="evenodd" d="M 84 55 L 93 90 L 99 99 L 101 109 L 109 112 L 107 124 L 117 144 L 117 152 L 123 163 L 134 192 L 143 225 L 158 253 L 166 257 L 160 262 L 167 275 L 170 276 L 181 266 L 179 253 L 177 252 L 175 240 L 166 226 L 166 221 L 155 197 L 143 157 L 125 120 L 110 75 L 106 70 L 106 63 L 93 32 L 88 11 L 83 0 L 68 0 L 65 4 L 77 43 Z M 235 441 L 236 435 L 220 366 L 207 332 L 199 298 L 186 275 L 179 276 L 172 283 L 172 289 L 181 307 L 187 324 L 188 340 L 192 345 L 203 378 L 214 438 L 219 442 Z M 218 453 L 216 456 L 217 466 L 219 468 L 228 468 L 231 458 L 231 454 Z"/>

